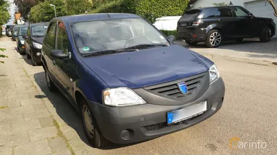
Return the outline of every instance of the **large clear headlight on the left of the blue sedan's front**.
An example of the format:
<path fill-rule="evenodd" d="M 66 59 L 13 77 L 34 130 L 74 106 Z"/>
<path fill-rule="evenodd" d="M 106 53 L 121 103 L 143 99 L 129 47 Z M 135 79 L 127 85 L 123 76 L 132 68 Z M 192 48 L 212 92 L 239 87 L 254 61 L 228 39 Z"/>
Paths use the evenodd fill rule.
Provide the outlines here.
<path fill-rule="evenodd" d="M 105 105 L 126 106 L 126 105 L 142 105 L 146 102 L 127 87 L 118 87 L 103 91 L 103 100 Z"/>

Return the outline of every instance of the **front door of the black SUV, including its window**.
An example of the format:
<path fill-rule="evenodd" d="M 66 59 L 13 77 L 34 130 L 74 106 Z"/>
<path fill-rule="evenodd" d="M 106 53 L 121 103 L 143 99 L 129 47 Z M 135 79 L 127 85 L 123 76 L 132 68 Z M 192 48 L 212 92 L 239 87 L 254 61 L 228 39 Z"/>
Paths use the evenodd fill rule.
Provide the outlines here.
<path fill-rule="evenodd" d="M 236 30 L 238 37 L 252 37 L 255 33 L 255 20 L 249 17 L 249 12 L 242 7 L 233 8 L 233 13 L 237 19 Z"/>

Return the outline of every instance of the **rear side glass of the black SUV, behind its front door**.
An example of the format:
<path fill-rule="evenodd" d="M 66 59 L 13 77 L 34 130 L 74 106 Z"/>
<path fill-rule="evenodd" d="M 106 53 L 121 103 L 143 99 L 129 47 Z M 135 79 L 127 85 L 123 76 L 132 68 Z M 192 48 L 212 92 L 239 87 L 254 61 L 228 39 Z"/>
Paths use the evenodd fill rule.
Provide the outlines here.
<path fill-rule="evenodd" d="M 231 8 L 206 8 L 198 16 L 199 19 L 215 17 L 233 17 Z"/>

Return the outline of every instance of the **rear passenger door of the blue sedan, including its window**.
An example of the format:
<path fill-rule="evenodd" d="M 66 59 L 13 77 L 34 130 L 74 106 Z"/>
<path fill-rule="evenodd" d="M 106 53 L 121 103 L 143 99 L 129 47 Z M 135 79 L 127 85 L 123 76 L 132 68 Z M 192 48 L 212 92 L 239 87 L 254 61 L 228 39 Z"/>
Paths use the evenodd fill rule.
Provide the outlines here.
<path fill-rule="evenodd" d="M 44 65 L 46 65 L 46 68 L 48 68 L 48 73 L 50 76 L 54 79 L 57 80 L 57 76 L 54 74 L 55 70 L 55 59 L 53 56 L 51 56 L 51 51 L 55 50 L 56 48 L 56 30 L 57 30 L 57 22 L 52 22 L 49 24 L 49 28 L 46 31 L 46 35 L 44 38 L 44 43 L 42 45 L 42 54 L 43 54 L 43 59 Z M 46 63 L 46 64 L 45 64 Z"/>

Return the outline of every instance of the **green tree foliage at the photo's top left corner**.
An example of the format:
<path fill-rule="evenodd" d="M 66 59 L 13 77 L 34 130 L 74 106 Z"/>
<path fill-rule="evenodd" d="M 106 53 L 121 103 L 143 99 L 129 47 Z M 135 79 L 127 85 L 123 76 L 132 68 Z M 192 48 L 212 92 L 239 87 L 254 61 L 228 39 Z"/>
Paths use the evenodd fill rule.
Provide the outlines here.
<path fill-rule="evenodd" d="M 10 3 L 7 0 L 0 0 L 0 26 L 10 20 L 9 8 Z"/>

